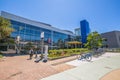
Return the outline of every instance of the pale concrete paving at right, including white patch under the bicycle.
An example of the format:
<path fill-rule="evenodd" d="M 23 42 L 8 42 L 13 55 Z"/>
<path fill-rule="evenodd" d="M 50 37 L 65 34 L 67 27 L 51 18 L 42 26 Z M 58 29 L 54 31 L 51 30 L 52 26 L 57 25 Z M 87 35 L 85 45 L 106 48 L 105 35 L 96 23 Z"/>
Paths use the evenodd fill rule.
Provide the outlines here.
<path fill-rule="evenodd" d="M 66 64 L 77 66 L 76 68 L 42 80 L 120 80 L 119 61 L 120 53 L 106 53 L 99 58 L 93 58 L 91 62 L 74 60 Z M 117 70 L 117 72 L 114 70 Z M 112 71 L 114 73 L 110 75 L 117 75 L 116 77 L 107 75 Z M 107 77 L 105 75 L 107 75 Z"/>

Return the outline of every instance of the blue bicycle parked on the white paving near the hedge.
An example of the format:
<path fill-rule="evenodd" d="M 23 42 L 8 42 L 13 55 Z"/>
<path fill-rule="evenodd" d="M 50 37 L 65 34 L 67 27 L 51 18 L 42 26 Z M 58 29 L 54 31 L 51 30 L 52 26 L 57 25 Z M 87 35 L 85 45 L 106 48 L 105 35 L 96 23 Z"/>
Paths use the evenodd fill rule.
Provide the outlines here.
<path fill-rule="evenodd" d="M 85 59 L 86 61 L 90 62 L 92 60 L 92 53 L 82 53 L 77 55 L 78 60 Z"/>

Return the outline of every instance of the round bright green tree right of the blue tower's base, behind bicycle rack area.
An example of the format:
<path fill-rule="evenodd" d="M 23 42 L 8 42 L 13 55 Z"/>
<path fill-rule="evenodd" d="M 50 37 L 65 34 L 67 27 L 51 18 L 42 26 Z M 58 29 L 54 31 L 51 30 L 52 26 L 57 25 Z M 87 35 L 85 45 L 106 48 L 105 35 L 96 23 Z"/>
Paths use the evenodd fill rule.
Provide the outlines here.
<path fill-rule="evenodd" d="M 92 32 L 87 37 L 87 43 L 85 46 L 89 49 L 95 49 L 102 46 L 102 37 L 98 32 Z"/>

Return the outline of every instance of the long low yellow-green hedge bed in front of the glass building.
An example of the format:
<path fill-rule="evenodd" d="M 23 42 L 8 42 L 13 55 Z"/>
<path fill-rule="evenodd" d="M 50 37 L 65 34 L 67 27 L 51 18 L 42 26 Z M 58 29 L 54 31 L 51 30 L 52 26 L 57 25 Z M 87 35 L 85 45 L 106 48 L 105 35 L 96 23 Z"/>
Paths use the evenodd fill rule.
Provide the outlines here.
<path fill-rule="evenodd" d="M 62 57 L 72 56 L 80 54 L 82 52 L 88 52 L 87 48 L 78 49 L 59 49 L 59 50 L 49 50 L 49 59 L 58 59 Z"/>

